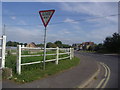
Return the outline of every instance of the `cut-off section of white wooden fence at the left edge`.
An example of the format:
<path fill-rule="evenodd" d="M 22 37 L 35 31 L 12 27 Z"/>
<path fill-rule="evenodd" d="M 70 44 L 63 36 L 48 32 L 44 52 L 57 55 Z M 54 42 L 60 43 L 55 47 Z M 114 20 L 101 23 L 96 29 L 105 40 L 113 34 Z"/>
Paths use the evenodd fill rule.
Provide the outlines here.
<path fill-rule="evenodd" d="M 1 38 L 1 45 L 0 45 L 0 60 L 1 60 L 1 66 L 0 68 L 5 67 L 5 50 L 6 50 L 6 36 L 3 35 Z"/>

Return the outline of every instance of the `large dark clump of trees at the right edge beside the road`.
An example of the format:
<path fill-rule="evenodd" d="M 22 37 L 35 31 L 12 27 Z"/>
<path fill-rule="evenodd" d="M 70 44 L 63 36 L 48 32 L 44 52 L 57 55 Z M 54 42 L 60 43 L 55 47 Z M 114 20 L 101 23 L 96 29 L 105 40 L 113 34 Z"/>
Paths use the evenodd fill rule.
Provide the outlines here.
<path fill-rule="evenodd" d="M 120 34 L 114 33 L 112 36 L 106 37 L 103 43 L 94 44 L 87 50 L 98 53 L 120 53 Z"/>

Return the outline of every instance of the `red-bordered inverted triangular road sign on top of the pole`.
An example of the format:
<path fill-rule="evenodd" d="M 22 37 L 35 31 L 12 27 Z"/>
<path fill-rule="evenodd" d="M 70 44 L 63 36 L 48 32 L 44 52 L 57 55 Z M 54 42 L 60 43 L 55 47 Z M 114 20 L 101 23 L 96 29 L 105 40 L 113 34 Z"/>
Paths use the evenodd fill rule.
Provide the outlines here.
<path fill-rule="evenodd" d="M 54 12 L 55 12 L 55 10 L 39 11 L 40 17 L 41 17 L 42 22 L 43 22 L 45 27 L 47 27 Z"/>

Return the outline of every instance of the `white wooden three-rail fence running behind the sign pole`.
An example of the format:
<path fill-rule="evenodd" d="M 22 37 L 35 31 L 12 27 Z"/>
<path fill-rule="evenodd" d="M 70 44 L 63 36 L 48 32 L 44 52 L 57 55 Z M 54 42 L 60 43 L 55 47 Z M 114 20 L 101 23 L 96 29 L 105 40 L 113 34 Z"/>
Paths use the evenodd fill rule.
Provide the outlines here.
<path fill-rule="evenodd" d="M 21 58 L 22 57 L 31 57 L 31 56 L 43 56 L 43 54 L 40 55 L 22 55 L 21 52 L 22 50 L 41 50 L 41 48 L 29 48 L 29 47 L 21 47 L 21 45 L 17 46 L 17 73 L 21 74 L 21 66 L 23 65 L 30 65 L 30 64 L 37 64 L 37 63 L 43 63 L 43 61 L 37 61 L 37 62 L 30 62 L 30 63 L 21 63 Z M 51 60 L 46 60 L 45 62 L 51 62 L 51 61 L 55 61 L 56 64 L 58 64 L 59 60 L 62 59 L 72 59 L 74 57 L 74 49 L 73 48 L 46 48 L 46 50 L 56 50 L 55 54 L 46 54 L 46 56 L 48 55 L 56 55 L 56 59 L 51 59 Z M 66 50 L 66 52 L 64 53 L 60 53 L 60 50 Z M 63 54 L 68 54 L 69 56 L 67 57 L 62 57 L 59 58 L 59 55 L 63 55 Z"/>

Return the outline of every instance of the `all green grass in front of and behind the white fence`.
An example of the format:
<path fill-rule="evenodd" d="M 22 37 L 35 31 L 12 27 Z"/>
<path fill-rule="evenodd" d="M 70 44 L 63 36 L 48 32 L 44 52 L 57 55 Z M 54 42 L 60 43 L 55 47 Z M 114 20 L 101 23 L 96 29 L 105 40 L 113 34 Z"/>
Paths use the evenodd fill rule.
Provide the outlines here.
<path fill-rule="evenodd" d="M 66 56 L 68 55 L 67 54 L 60 55 L 60 58 L 66 57 Z M 47 56 L 47 59 L 55 59 L 55 58 L 56 56 L 53 56 L 53 55 Z M 41 60 L 43 60 L 43 56 L 24 57 L 22 58 L 22 63 L 29 63 L 29 62 L 35 62 L 35 61 L 41 61 Z M 62 72 L 66 69 L 69 69 L 71 67 L 78 65 L 79 61 L 80 61 L 79 58 L 74 57 L 72 60 L 69 60 L 69 59 L 60 60 L 58 65 L 55 64 L 55 61 L 47 62 L 46 70 L 42 69 L 42 63 L 33 64 L 33 65 L 25 65 L 25 66 L 22 66 L 21 75 L 18 75 L 16 73 L 16 56 L 8 55 L 6 57 L 6 67 L 12 68 L 13 70 L 13 77 L 11 78 L 11 80 L 19 82 L 19 83 L 26 83 L 26 82 L 38 80 L 38 79 L 41 79 L 41 78 L 44 78 L 50 75 L 54 75 L 58 72 Z"/>

